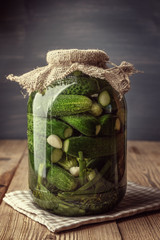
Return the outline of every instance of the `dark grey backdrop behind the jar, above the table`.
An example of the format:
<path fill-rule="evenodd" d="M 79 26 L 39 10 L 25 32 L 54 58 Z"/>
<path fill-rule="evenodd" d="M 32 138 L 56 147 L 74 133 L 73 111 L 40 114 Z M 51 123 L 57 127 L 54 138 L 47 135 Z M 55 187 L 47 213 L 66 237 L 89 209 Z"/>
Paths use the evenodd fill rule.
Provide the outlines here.
<path fill-rule="evenodd" d="M 160 140 L 160 1 L 14 0 L 0 6 L 0 138 L 26 138 L 27 98 L 5 79 L 46 65 L 47 51 L 98 48 L 131 77 L 128 138 Z"/>

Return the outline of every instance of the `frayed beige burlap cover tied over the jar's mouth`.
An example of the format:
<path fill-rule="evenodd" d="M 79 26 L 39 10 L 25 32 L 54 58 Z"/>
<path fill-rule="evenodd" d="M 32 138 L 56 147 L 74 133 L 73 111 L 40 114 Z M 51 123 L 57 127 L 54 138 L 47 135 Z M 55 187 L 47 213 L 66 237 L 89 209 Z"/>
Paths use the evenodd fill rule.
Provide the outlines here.
<path fill-rule="evenodd" d="M 7 79 L 18 82 L 27 92 L 42 92 L 54 80 L 62 79 L 73 71 L 100 79 L 106 79 L 119 92 L 120 98 L 130 88 L 129 76 L 137 71 L 132 64 L 123 61 L 119 66 L 107 67 L 108 55 L 101 50 L 54 50 L 47 53 L 47 66 L 23 74 L 10 74 Z"/>

